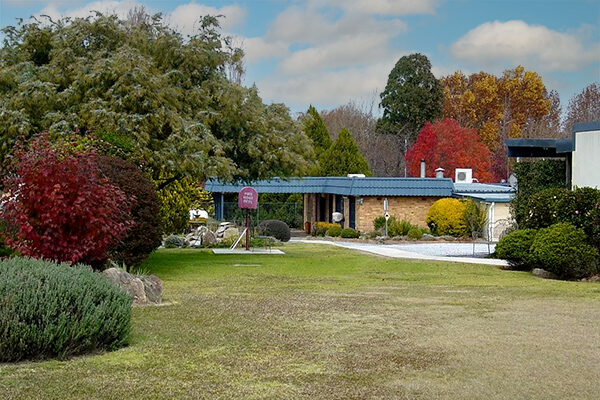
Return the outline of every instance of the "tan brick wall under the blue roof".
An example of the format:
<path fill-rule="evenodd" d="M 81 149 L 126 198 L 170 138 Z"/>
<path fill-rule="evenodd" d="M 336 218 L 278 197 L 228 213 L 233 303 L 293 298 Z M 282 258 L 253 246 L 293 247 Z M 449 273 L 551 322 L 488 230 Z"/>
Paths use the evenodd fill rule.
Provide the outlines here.
<path fill-rule="evenodd" d="M 373 220 L 383 215 L 384 197 L 363 197 L 363 204 L 356 199 L 356 229 L 361 232 L 373 230 Z M 388 210 L 398 220 L 406 220 L 426 227 L 425 218 L 429 207 L 439 197 L 387 197 Z"/>

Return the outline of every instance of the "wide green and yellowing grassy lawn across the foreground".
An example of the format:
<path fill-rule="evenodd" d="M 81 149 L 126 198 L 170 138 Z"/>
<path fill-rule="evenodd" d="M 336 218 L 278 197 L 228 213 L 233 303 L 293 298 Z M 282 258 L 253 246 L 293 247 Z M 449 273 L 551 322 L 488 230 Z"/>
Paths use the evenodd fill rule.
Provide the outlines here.
<path fill-rule="evenodd" d="M 597 399 L 600 285 L 319 245 L 161 250 L 130 346 L 0 364 L 1 399 Z"/>

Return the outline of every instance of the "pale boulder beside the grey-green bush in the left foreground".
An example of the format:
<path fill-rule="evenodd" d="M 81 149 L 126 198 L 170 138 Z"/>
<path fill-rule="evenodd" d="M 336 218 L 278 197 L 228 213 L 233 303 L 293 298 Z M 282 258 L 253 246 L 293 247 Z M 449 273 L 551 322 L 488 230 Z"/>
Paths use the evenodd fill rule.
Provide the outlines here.
<path fill-rule="evenodd" d="M 154 275 L 132 275 L 121 268 L 108 268 L 102 275 L 123 288 L 137 305 L 158 304 L 162 299 L 162 282 Z"/>

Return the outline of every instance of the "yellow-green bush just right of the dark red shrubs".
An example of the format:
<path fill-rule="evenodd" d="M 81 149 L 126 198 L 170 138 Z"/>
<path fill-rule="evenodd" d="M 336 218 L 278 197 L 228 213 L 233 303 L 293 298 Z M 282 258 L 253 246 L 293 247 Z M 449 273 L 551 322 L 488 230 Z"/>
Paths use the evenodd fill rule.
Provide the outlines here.
<path fill-rule="evenodd" d="M 190 224 L 190 210 L 202 208 L 214 212 L 212 195 L 202 186 L 183 178 L 157 192 L 161 202 L 160 215 L 164 233 L 186 232 Z"/>

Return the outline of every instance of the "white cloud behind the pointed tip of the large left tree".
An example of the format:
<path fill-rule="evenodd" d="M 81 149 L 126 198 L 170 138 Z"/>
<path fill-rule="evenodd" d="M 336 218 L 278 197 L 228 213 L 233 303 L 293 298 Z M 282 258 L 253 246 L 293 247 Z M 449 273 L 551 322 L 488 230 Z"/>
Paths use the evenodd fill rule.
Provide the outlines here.
<path fill-rule="evenodd" d="M 198 30 L 198 20 L 204 15 L 223 15 L 220 19 L 221 28 L 229 30 L 240 24 L 246 17 L 246 9 L 232 5 L 215 8 L 202 4 L 188 3 L 175 8 L 167 15 L 167 21 L 181 33 L 191 35 Z"/>

